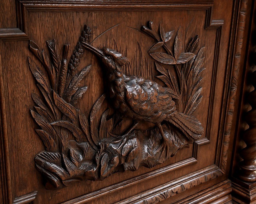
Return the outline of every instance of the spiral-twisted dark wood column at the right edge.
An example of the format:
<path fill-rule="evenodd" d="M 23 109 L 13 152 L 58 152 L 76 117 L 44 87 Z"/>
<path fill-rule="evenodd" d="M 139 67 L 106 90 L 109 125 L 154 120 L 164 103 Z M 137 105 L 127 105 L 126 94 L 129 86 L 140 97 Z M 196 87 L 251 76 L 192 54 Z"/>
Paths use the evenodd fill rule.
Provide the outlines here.
<path fill-rule="evenodd" d="M 254 90 L 248 94 L 248 103 L 252 109 L 245 115 L 245 121 L 249 128 L 243 133 L 243 141 L 246 147 L 240 152 L 243 161 L 239 163 L 241 168 L 239 172 L 239 179 L 245 182 L 256 181 L 256 71 L 254 71 L 249 79 L 254 86 Z"/>

